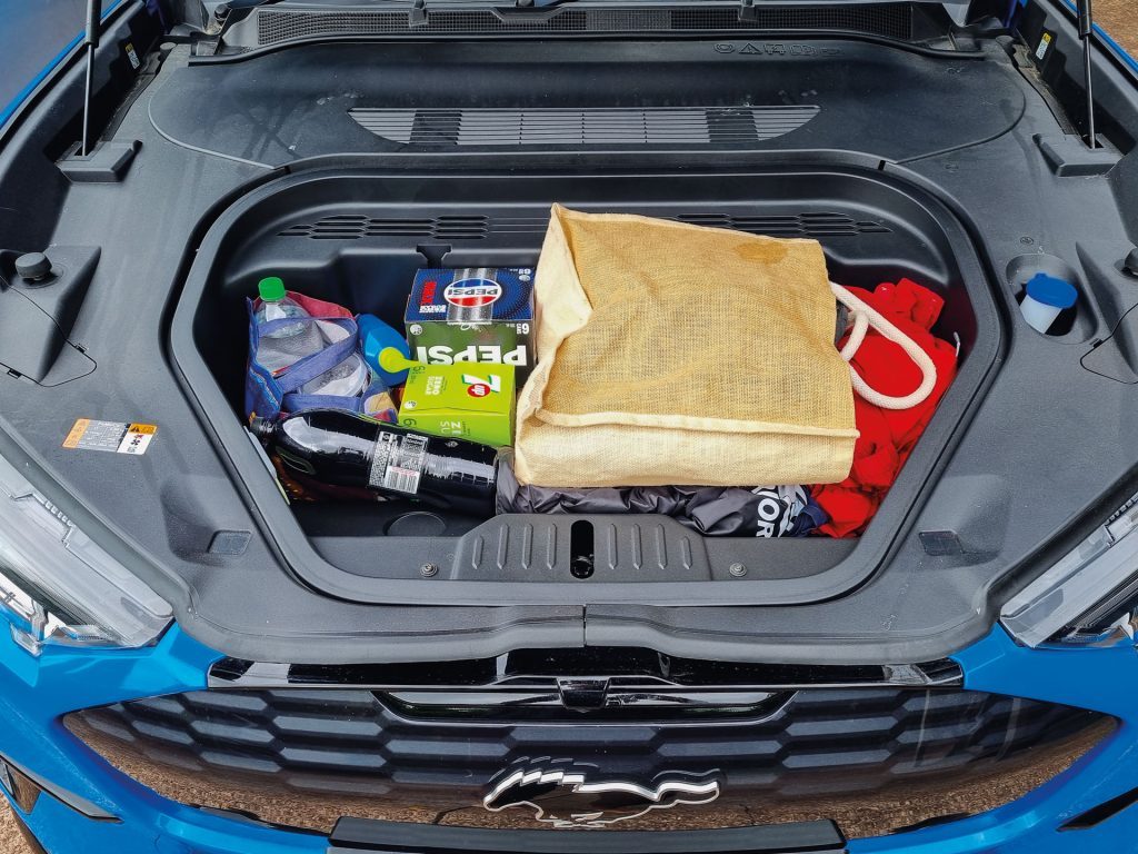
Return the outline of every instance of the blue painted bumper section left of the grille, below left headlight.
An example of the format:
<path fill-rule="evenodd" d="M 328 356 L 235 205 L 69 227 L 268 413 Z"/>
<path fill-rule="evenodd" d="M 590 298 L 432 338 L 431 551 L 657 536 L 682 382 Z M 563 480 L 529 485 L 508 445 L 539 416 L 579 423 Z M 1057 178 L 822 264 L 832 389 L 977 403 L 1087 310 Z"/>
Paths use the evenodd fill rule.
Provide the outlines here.
<path fill-rule="evenodd" d="M 220 656 L 175 627 L 142 650 L 46 649 L 36 659 L 0 631 L 0 754 L 121 819 L 92 821 L 49 795 L 22 813 L 50 852 L 122 854 L 323 851 L 327 841 L 216 818 L 160 798 L 112 769 L 60 723 L 61 715 L 123 699 L 205 688 Z M 15 805 L 13 808 L 18 811 Z"/>

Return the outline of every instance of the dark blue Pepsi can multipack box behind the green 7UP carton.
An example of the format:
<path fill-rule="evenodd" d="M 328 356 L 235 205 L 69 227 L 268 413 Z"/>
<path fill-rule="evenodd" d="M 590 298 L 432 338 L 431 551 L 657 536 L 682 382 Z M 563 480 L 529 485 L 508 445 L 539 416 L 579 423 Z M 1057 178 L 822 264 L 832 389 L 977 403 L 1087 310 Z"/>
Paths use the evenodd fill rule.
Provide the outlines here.
<path fill-rule="evenodd" d="M 420 270 L 404 322 L 414 361 L 512 364 L 520 388 L 535 361 L 534 271 Z"/>

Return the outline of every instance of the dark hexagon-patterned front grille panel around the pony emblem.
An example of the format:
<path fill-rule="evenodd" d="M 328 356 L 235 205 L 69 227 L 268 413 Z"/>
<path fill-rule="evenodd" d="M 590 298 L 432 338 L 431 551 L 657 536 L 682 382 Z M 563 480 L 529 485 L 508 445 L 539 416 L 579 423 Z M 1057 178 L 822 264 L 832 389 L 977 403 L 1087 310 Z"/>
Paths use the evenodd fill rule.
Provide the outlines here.
<path fill-rule="evenodd" d="M 445 708 L 445 697 L 436 698 Z M 848 836 L 1007 803 L 1111 729 L 1091 712 L 963 690 L 817 689 L 773 695 L 740 720 L 510 722 L 422 712 L 369 690 L 198 691 L 75 713 L 67 726 L 112 764 L 183 803 L 322 831 L 341 815 L 541 827 L 490 813 L 518 766 L 594 769 L 648 783 L 721 780 L 714 803 L 629 829 L 834 819 Z M 498 722 L 501 720 L 501 722 Z M 978 793 L 979 796 L 978 796 Z M 663 823 L 660 823 L 663 822 Z"/>

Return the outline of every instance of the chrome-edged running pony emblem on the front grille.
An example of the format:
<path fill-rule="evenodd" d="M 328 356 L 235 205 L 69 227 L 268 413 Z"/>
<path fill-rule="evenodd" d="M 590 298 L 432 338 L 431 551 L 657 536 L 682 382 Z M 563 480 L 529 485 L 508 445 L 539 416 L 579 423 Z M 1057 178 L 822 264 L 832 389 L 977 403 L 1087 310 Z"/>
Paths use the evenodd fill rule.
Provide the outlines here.
<path fill-rule="evenodd" d="M 525 806 L 535 820 L 556 828 L 603 828 L 653 810 L 709 804 L 719 797 L 719 781 L 708 775 L 661 774 L 650 786 L 640 786 L 591 780 L 591 772 L 595 770 L 582 766 L 516 769 L 493 785 L 483 806 L 495 813 Z"/>

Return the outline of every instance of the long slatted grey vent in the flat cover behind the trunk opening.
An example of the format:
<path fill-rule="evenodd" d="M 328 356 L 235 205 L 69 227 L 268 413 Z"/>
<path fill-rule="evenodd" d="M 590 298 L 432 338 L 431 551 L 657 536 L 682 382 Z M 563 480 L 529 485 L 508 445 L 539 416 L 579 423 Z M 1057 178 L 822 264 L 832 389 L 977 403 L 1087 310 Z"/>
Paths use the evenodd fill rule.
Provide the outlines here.
<path fill-rule="evenodd" d="M 361 128 L 410 146 L 624 145 L 745 147 L 798 130 L 815 106 L 646 107 L 640 109 L 348 110 Z"/>

